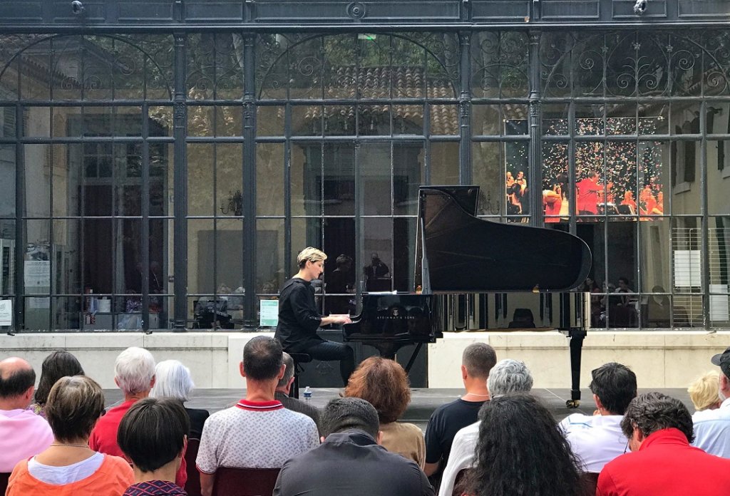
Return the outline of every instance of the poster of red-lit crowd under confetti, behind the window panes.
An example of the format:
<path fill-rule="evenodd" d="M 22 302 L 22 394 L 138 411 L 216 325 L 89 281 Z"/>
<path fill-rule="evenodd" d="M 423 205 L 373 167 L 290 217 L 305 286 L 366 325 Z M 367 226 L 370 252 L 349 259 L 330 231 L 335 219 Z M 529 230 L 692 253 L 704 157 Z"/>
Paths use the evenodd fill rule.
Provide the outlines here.
<path fill-rule="evenodd" d="M 639 117 L 638 134 L 656 133 L 661 117 Z M 579 118 L 576 136 L 632 135 L 634 117 Z M 566 119 L 545 120 L 546 133 L 565 136 Z M 575 142 L 575 190 L 568 185 L 568 144 L 544 142 L 542 146 L 542 208 L 545 222 L 567 221 L 569 198 L 575 195 L 578 220 L 601 216 L 653 220 L 664 213 L 661 142 Z M 509 169 L 508 169 L 509 170 Z M 596 216 L 596 217 L 592 217 Z"/>

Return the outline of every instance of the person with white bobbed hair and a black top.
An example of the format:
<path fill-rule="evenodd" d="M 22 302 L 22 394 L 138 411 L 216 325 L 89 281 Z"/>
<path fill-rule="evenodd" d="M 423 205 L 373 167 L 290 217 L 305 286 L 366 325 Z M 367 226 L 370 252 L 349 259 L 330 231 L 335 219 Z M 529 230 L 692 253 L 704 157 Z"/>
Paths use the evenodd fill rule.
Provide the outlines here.
<path fill-rule="evenodd" d="M 152 398 L 174 398 L 184 404 L 190 400 L 194 389 L 190 369 L 178 360 L 164 360 L 155 366 L 155 385 L 150 391 Z M 190 419 L 190 432 L 185 434 L 190 439 L 200 439 L 203 424 L 210 414 L 201 408 L 185 407 L 185 412 Z"/>

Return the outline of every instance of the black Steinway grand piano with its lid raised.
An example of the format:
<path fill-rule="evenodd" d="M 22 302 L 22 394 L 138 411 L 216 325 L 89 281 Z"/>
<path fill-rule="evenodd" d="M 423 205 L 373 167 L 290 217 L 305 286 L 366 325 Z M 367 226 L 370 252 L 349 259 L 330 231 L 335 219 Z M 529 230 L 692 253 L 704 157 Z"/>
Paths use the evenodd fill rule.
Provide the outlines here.
<path fill-rule="evenodd" d="M 413 292 L 363 295 L 360 313 L 343 326 L 344 340 L 369 344 L 390 358 L 416 344 L 409 370 L 423 344 L 444 330 L 499 328 L 499 322 L 536 327 L 529 309 L 515 309 L 512 322 L 506 321 L 507 298 L 537 298 L 542 323 L 569 338 L 566 405 L 577 407 L 590 309 L 585 293 L 570 291 L 588 276 L 591 252 L 561 230 L 480 219 L 478 198 L 478 186 L 420 187 Z"/>

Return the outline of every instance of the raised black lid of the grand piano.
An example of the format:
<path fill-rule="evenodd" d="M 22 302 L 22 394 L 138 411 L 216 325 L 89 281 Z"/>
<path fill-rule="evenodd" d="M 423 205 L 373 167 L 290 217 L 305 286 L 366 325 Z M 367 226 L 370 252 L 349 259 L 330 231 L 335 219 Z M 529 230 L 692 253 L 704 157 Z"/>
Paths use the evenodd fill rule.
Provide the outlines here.
<path fill-rule="evenodd" d="M 423 292 L 569 291 L 591 270 L 585 242 L 561 230 L 476 217 L 478 186 L 420 187 L 416 278 Z M 467 212 L 464 207 L 472 210 Z M 421 274 L 418 274 L 420 266 Z"/>

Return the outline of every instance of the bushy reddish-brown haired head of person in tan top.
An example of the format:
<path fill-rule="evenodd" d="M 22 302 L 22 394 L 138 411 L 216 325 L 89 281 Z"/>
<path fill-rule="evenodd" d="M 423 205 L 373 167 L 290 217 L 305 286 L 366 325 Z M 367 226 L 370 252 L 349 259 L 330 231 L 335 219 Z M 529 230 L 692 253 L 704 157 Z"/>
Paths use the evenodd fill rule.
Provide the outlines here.
<path fill-rule="evenodd" d="M 362 398 L 377 410 L 381 424 L 400 418 L 410 403 L 408 376 L 395 360 L 369 357 L 347 381 L 345 396 Z"/>

